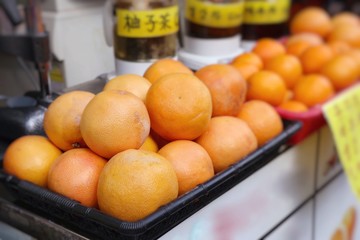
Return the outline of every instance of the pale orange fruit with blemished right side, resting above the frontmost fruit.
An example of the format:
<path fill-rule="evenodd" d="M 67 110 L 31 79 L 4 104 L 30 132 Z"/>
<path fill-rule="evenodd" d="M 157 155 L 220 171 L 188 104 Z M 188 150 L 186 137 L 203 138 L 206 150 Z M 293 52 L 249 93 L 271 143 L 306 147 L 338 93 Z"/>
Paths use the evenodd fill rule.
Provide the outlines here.
<path fill-rule="evenodd" d="M 92 151 L 111 158 L 126 149 L 141 147 L 150 132 L 150 118 L 144 102 L 134 94 L 103 91 L 86 106 L 80 130 Z"/>

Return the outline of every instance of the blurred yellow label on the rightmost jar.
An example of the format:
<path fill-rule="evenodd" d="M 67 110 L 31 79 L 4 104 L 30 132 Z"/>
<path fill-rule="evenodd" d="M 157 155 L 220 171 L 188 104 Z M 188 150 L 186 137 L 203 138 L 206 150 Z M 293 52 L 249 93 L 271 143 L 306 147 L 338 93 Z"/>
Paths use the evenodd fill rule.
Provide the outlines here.
<path fill-rule="evenodd" d="M 245 0 L 244 23 L 273 24 L 287 21 L 290 0 Z"/>

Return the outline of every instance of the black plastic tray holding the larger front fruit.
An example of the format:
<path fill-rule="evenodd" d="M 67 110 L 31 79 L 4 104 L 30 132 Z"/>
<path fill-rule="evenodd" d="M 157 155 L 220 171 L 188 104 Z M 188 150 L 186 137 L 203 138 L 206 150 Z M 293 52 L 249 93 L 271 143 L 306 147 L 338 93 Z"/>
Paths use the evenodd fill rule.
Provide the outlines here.
<path fill-rule="evenodd" d="M 18 202 L 88 238 L 156 239 L 284 152 L 289 147 L 287 141 L 300 130 L 302 123 L 284 121 L 284 125 L 279 136 L 258 150 L 137 222 L 118 220 L 2 170 L 0 180 Z"/>

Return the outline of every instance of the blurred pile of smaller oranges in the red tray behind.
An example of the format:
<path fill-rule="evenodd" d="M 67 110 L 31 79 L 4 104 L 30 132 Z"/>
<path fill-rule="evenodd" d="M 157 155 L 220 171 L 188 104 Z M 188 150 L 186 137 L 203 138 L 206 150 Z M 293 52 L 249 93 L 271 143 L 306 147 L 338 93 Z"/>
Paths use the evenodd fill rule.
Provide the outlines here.
<path fill-rule="evenodd" d="M 360 18 L 300 11 L 286 38 L 264 38 L 231 63 L 248 83 L 247 99 L 303 112 L 354 84 L 360 76 Z"/>

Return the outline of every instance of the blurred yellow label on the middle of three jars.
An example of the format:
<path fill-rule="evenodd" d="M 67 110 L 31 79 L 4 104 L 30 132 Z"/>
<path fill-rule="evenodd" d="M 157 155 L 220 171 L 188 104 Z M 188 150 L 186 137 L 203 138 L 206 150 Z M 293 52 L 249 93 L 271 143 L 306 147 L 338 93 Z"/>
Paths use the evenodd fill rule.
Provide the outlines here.
<path fill-rule="evenodd" d="M 240 26 L 243 20 L 244 2 L 210 3 L 187 0 L 186 19 L 202 26 L 229 28 Z"/>

